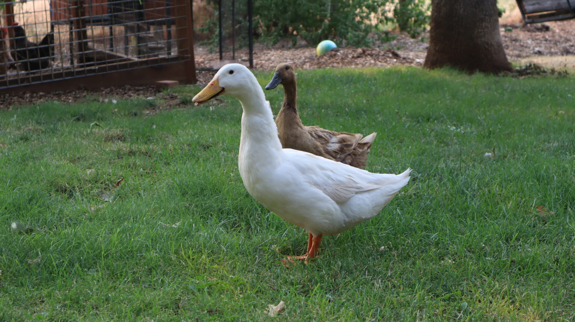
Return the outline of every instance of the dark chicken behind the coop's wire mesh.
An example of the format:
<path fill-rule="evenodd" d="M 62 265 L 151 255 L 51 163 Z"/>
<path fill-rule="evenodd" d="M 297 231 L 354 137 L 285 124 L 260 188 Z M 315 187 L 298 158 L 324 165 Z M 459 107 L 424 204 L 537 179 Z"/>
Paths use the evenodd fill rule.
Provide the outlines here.
<path fill-rule="evenodd" d="M 26 32 L 18 22 L 14 23 L 14 49 L 16 60 L 25 71 L 36 71 L 50 67 L 53 53 L 54 33 L 48 33 L 40 43 L 32 43 L 26 38 Z"/>

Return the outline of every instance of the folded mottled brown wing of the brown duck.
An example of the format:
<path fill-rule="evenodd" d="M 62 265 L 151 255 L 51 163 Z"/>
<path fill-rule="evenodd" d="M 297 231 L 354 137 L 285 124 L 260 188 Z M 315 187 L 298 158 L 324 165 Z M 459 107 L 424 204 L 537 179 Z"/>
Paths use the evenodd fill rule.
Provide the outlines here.
<path fill-rule="evenodd" d="M 323 152 L 334 160 L 342 162 L 359 144 L 362 135 L 358 133 L 335 132 L 320 127 L 305 127 L 309 136 L 321 146 Z"/>

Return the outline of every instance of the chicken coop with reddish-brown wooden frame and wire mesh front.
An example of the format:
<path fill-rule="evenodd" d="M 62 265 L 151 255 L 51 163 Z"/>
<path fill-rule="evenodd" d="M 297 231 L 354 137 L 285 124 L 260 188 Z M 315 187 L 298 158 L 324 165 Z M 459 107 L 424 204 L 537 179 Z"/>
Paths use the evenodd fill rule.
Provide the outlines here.
<path fill-rule="evenodd" d="M 190 0 L 0 0 L 0 93 L 195 82 Z"/>

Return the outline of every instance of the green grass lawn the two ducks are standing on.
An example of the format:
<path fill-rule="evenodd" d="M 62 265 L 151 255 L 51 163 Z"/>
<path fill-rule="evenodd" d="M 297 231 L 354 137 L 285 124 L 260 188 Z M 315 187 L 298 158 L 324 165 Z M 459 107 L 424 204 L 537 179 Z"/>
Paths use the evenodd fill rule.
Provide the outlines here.
<path fill-rule="evenodd" d="M 298 85 L 304 124 L 375 131 L 367 170 L 413 175 L 293 269 L 279 260 L 306 233 L 241 183 L 236 99 L 0 111 L 0 320 L 575 319 L 574 79 L 392 68 Z M 266 95 L 277 113 L 281 88 Z"/>

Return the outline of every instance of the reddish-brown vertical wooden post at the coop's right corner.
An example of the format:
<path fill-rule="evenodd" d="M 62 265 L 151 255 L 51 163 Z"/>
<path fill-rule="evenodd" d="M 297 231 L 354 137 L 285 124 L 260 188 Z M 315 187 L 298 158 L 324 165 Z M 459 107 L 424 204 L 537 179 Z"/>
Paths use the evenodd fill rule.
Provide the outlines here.
<path fill-rule="evenodd" d="M 191 0 L 175 0 L 174 16 L 178 55 L 186 57 L 186 82 L 196 83 L 196 59 L 194 57 L 194 31 L 191 19 Z"/>

